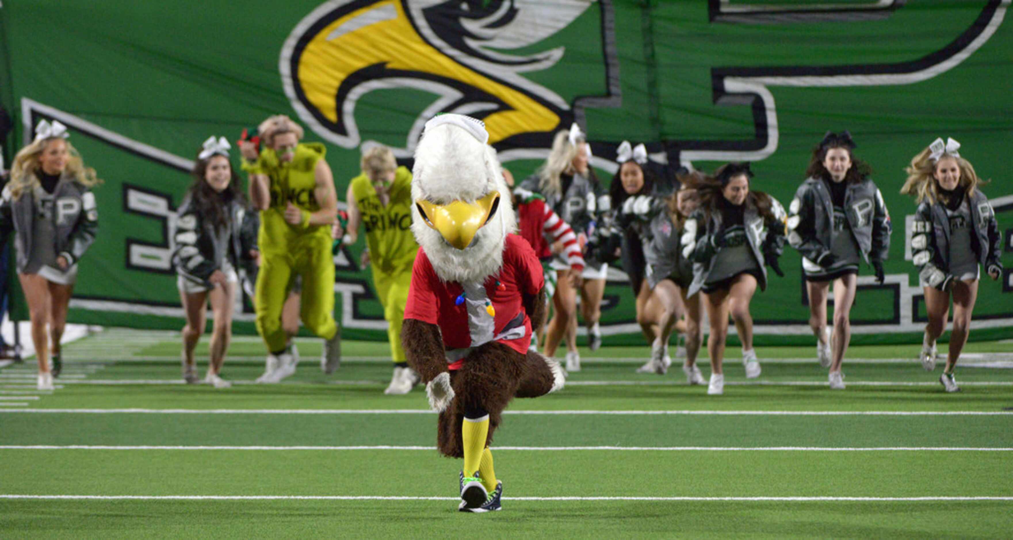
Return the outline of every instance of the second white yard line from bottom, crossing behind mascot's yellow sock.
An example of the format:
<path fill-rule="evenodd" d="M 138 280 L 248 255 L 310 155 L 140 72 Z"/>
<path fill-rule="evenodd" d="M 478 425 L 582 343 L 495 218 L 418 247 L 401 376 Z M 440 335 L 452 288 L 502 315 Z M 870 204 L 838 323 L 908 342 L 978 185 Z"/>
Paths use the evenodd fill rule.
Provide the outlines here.
<path fill-rule="evenodd" d="M 619 452 L 1013 452 L 1013 448 L 969 448 L 969 447 L 706 447 L 706 446 L 496 446 L 496 452 L 573 452 L 573 451 L 619 451 Z M 356 450 L 397 450 L 436 451 L 433 446 L 109 446 L 109 445 L 3 445 L 0 450 L 238 450 L 238 451 L 356 451 Z"/>

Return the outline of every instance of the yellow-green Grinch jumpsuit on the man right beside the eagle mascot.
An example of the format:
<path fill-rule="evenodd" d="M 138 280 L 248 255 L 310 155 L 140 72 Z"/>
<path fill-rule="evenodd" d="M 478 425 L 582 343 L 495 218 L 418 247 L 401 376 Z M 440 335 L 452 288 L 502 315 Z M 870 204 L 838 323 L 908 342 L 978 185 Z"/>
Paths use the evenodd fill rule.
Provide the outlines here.
<path fill-rule="evenodd" d="M 411 267 L 418 244 L 411 234 L 411 172 L 398 167 L 390 187 L 387 206 L 365 173 L 352 179 L 352 195 L 366 225 L 366 243 L 370 249 L 373 284 L 387 319 L 387 336 L 394 363 L 405 362 L 401 349 L 401 322 L 408 302 Z"/>

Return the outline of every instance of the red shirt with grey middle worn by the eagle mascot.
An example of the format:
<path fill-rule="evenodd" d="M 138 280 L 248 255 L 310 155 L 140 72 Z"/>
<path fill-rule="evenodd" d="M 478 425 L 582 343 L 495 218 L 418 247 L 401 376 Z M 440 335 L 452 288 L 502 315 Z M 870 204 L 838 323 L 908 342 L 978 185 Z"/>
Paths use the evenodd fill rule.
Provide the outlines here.
<path fill-rule="evenodd" d="M 509 234 L 499 273 L 481 287 L 469 288 L 466 298 L 458 302 L 465 288 L 456 282 L 442 282 L 425 250 L 419 248 L 404 318 L 440 326 L 448 351 L 495 340 L 524 355 L 531 344 L 531 319 L 522 295 L 535 296 L 544 285 L 535 251 L 524 238 Z M 489 308 L 494 315 L 489 314 Z"/>

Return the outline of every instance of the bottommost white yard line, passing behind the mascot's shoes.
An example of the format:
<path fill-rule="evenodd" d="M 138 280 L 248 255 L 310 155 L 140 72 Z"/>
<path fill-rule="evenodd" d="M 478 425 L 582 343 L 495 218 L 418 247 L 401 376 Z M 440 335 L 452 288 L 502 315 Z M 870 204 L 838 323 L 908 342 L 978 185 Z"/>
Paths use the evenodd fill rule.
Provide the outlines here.
<path fill-rule="evenodd" d="M 4 499 L 35 500 L 460 500 L 456 496 L 405 495 L 23 495 L 0 494 Z M 923 500 L 1013 500 L 1013 496 L 511 496 L 503 500 L 685 500 L 732 503 L 909 503 Z"/>

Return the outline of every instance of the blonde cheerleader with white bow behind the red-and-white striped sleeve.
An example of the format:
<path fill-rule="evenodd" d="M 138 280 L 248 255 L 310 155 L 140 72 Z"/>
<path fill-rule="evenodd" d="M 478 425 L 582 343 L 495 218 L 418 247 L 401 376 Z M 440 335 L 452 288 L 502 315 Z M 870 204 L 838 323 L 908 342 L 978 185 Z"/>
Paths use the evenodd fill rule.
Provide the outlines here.
<path fill-rule="evenodd" d="M 552 150 L 538 172 L 523 182 L 521 188 L 540 194 L 549 208 L 569 223 L 574 232 L 587 242 L 603 213 L 610 208 L 609 198 L 602 190 L 595 171 L 589 165 L 591 147 L 580 129 L 574 124 L 568 132 L 559 132 L 552 142 Z M 566 339 L 566 370 L 580 371 L 580 354 L 576 350 L 576 293 L 571 275 L 576 274 L 562 257 L 550 264 L 556 271 L 556 292 L 552 296 L 553 316 L 545 340 L 545 354 L 555 355 L 559 341 Z M 605 295 L 605 278 L 608 264 L 583 268 L 580 278 L 580 307 L 588 325 L 589 346 L 592 351 L 602 343 L 598 320 L 601 317 L 602 298 Z"/>

